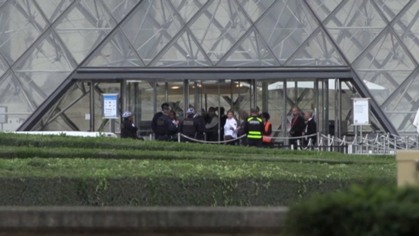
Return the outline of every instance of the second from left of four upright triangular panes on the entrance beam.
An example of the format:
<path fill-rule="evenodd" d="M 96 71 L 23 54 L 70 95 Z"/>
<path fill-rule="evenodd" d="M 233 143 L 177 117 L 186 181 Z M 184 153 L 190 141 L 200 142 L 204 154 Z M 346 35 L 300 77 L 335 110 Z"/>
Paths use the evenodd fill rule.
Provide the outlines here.
<path fill-rule="evenodd" d="M 185 31 L 152 66 L 190 67 L 210 65 L 211 63 L 204 57 L 191 35 Z"/>

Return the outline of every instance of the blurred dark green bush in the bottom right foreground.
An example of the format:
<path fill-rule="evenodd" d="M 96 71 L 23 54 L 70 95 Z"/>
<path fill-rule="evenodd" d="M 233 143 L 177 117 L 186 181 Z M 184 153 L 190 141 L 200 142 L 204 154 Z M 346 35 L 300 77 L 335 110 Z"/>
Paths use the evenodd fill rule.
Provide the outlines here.
<path fill-rule="evenodd" d="M 290 208 L 290 236 L 419 235 L 419 188 L 368 184 Z"/>

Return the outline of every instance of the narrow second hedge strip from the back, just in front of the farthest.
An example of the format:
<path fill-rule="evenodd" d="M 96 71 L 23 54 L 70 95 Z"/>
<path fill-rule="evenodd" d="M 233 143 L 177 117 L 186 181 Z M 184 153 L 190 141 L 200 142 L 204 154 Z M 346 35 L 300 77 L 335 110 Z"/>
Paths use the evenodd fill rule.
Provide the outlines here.
<path fill-rule="evenodd" d="M 327 164 L 389 164 L 393 159 L 352 158 L 344 156 L 332 159 L 311 158 L 296 154 L 274 155 L 271 153 L 220 153 L 206 151 L 170 151 L 170 150 L 121 150 L 121 149 L 92 149 L 92 148 L 35 148 L 24 146 L 0 146 L 0 158 L 96 158 L 96 159 L 210 159 L 210 160 L 250 160 L 250 161 L 281 161 Z"/>

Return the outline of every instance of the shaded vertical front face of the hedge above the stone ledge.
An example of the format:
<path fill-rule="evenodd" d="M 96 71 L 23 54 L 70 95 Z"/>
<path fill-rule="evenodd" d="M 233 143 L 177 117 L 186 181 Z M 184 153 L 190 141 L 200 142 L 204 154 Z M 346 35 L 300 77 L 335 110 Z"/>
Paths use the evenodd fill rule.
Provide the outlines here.
<path fill-rule="evenodd" d="M 346 185 L 269 178 L 0 178 L 0 206 L 283 206 Z"/>

